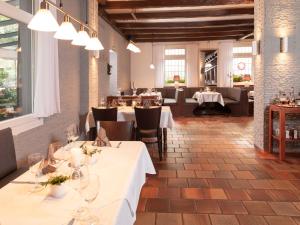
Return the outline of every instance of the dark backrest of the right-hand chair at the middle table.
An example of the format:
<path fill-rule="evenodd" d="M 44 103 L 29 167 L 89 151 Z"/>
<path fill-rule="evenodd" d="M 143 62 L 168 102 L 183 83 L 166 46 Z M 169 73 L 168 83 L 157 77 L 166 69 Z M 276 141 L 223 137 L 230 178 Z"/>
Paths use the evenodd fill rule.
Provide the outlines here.
<path fill-rule="evenodd" d="M 160 127 L 161 107 L 136 107 L 134 111 L 138 129 L 154 130 Z"/>

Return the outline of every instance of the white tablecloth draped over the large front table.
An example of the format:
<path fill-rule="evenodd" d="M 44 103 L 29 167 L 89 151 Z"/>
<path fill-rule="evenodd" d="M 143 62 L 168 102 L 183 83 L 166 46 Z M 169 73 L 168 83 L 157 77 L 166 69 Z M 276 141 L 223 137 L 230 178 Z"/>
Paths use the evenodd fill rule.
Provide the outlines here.
<path fill-rule="evenodd" d="M 100 178 L 99 194 L 92 202 L 92 210 L 102 225 L 132 225 L 145 175 L 155 174 L 151 158 L 142 142 L 122 142 L 120 148 L 103 149 L 98 162 L 89 168 Z M 69 152 L 59 151 L 65 155 Z M 33 180 L 33 175 L 27 172 L 0 189 L 1 225 L 68 225 L 75 211 L 85 204 L 71 187 L 61 199 L 49 197 L 47 188 L 30 193 L 32 184 L 22 182 Z"/>

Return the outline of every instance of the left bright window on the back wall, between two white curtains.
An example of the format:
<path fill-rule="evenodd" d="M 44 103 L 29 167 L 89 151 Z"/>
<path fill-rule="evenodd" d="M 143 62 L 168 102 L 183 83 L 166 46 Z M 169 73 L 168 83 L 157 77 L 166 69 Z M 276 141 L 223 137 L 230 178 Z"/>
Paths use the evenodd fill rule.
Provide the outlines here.
<path fill-rule="evenodd" d="M 174 76 L 179 75 L 179 83 L 185 83 L 186 56 L 184 48 L 165 49 L 165 83 L 173 84 Z"/>

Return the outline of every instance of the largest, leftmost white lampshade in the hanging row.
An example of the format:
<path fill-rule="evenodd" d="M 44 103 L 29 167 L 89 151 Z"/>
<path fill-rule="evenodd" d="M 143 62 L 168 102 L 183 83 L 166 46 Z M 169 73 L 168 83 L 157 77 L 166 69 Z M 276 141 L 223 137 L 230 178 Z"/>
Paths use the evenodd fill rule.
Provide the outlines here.
<path fill-rule="evenodd" d="M 58 30 L 59 25 L 48 9 L 41 8 L 30 20 L 27 27 L 36 31 L 55 32 Z"/>

